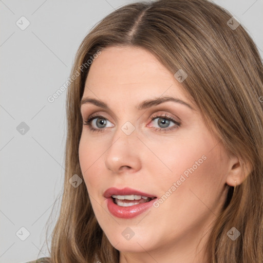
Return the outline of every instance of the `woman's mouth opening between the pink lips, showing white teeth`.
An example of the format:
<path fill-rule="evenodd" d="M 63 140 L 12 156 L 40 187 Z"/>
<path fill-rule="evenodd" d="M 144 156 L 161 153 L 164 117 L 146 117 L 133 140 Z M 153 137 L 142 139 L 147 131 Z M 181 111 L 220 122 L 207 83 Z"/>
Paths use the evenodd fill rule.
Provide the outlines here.
<path fill-rule="evenodd" d="M 112 200 L 119 206 L 132 206 L 149 202 L 157 197 L 147 197 L 141 195 L 112 195 Z"/>

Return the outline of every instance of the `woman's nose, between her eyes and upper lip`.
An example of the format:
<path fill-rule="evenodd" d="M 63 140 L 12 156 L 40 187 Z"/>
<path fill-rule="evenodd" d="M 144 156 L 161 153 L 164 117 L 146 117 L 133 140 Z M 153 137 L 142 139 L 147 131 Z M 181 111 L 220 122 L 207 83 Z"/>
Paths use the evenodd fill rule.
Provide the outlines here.
<path fill-rule="evenodd" d="M 141 169 L 140 140 L 136 129 L 127 135 L 118 128 L 105 153 L 105 166 L 112 173 L 135 173 Z"/>

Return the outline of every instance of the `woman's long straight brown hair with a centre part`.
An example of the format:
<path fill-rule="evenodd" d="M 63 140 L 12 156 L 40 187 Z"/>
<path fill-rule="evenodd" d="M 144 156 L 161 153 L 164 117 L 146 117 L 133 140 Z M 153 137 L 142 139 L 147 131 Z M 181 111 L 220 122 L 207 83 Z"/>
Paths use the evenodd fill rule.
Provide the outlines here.
<path fill-rule="evenodd" d="M 67 90 L 64 192 L 46 262 L 119 262 L 119 251 L 92 211 L 85 183 L 75 188 L 69 179 L 74 174 L 83 179 L 80 101 L 90 63 L 103 48 L 121 45 L 147 49 L 173 74 L 186 72 L 181 85 L 208 128 L 238 156 L 243 171 L 252 167 L 235 189 L 227 186 L 226 203 L 206 246 L 209 263 L 263 262 L 263 68 L 251 37 L 233 19 L 205 0 L 138 2 L 110 13 L 85 37 L 71 71 L 72 78 L 78 77 Z M 240 232 L 235 241 L 227 235 L 232 227 Z"/>

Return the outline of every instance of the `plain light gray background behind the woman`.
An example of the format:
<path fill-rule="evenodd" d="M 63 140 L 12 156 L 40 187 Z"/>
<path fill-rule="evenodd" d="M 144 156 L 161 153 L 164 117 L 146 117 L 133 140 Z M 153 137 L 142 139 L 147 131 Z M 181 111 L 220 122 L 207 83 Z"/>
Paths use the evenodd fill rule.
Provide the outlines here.
<path fill-rule="evenodd" d="M 40 250 L 41 257 L 48 256 L 42 248 L 46 223 L 57 198 L 59 210 L 63 186 L 66 91 L 53 103 L 47 98 L 69 78 L 90 28 L 132 2 L 0 0 L 1 263 L 34 260 Z M 263 0 L 214 2 L 247 28 L 262 57 Z M 21 16 L 30 22 L 24 30 Z M 58 212 L 54 215 L 49 234 Z M 27 238 L 22 227 L 30 233 Z"/>

